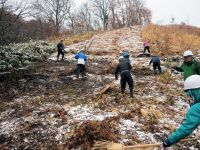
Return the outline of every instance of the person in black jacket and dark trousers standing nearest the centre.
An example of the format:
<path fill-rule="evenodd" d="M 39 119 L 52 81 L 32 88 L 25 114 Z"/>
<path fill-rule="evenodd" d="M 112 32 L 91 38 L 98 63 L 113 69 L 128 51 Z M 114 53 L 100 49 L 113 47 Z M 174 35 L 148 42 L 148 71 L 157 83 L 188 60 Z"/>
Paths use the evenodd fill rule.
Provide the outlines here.
<path fill-rule="evenodd" d="M 118 74 L 120 73 L 121 75 L 121 93 L 124 95 L 125 88 L 126 88 L 126 83 L 129 85 L 130 89 L 130 97 L 133 97 L 133 79 L 131 76 L 131 69 L 132 66 L 130 62 L 128 61 L 122 61 L 123 56 L 120 56 L 119 58 L 119 64 L 117 65 L 117 68 L 115 70 L 115 79 L 118 79 Z"/>

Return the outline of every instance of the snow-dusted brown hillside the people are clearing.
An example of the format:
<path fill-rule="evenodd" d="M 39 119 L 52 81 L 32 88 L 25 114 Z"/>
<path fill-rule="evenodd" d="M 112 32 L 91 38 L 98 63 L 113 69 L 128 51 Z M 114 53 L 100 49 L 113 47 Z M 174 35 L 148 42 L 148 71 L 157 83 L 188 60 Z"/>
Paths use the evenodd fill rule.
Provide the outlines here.
<path fill-rule="evenodd" d="M 160 39 L 160 34 L 152 38 L 154 34 L 146 30 L 157 33 L 141 26 L 106 31 L 67 46 L 64 61 L 57 61 L 54 52 L 44 62 L 2 73 L 0 148 L 90 149 L 95 140 L 124 145 L 165 140 L 189 108 L 183 77 L 170 69 L 181 63 L 182 52 L 169 51 L 165 55 L 154 44 L 152 52 L 163 54 L 164 71 L 155 76 L 152 66 L 148 66 L 150 58 L 137 57 L 143 52 L 142 39 L 151 38 L 152 43 Z M 197 59 L 198 44 L 191 47 Z M 87 78 L 76 79 L 74 53 L 85 45 L 89 47 Z M 129 97 L 128 88 L 123 97 L 120 80 L 114 78 L 121 50 L 129 51 L 131 56 L 134 98 Z M 195 131 L 191 136 L 198 135 Z M 187 142 L 173 148 L 199 147 L 199 142 Z"/>

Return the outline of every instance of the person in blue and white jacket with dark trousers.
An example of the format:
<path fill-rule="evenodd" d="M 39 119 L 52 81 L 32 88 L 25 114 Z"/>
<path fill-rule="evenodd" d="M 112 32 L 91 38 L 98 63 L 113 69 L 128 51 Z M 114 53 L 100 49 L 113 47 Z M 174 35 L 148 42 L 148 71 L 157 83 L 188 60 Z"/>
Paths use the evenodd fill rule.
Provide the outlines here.
<path fill-rule="evenodd" d="M 85 62 L 87 61 L 87 56 L 83 53 L 83 51 L 79 51 L 75 55 L 75 59 L 77 59 L 77 68 L 76 68 L 76 77 L 79 78 L 81 73 L 82 78 L 85 75 Z"/>

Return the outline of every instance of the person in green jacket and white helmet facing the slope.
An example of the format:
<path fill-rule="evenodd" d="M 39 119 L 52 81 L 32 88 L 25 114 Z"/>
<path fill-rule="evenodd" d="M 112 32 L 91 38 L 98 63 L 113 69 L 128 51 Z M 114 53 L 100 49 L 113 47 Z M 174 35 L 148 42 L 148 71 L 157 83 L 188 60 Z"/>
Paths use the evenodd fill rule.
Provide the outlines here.
<path fill-rule="evenodd" d="M 200 64 L 193 58 L 193 53 L 191 50 L 184 52 L 183 59 L 184 62 L 180 67 L 173 66 L 172 69 L 178 72 L 183 72 L 184 80 L 194 74 L 200 75 Z"/>

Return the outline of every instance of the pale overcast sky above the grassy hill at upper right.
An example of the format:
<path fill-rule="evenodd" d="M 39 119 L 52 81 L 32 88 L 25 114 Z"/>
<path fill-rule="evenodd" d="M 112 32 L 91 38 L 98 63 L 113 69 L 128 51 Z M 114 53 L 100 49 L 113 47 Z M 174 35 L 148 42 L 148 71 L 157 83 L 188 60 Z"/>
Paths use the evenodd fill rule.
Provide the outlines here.
<path fill-rule="evenodd" d="M 76 0 L 77 4 L 87 0 Z M 185 22 L 200 27 L 200 0 L 144 0 L 152 11 L 153 23 L 169 24 Z"/>

